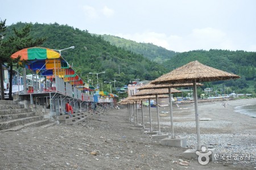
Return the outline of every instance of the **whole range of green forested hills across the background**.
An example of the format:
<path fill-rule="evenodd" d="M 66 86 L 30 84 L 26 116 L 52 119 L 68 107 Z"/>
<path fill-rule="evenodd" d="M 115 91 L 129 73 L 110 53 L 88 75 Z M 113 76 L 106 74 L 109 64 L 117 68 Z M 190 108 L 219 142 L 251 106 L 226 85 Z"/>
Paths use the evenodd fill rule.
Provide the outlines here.
<path fill-rule="evenodd" d="M 7 27 L 6 38 L 13 27 L 22 28 L 23 26 L 24 23 L 17 23 Z M 64 49 L 75 46 L 75 49 L 63 50 L 61 54 L 69 63 L 73 63 L 73 69 L 84 80 L 93 79 L 95 82 L 96 75 L 88 73 L 106 71 L 99 76 L 100 82 L 116 79 L 115 85 L 121 87 L 134 79 L 153 80 L 188 62 L 197 60 L 204 65 L 241 76 L 239 80 L 204 83 L 204 87 L 220 86 L 225 83 L 225 86 L 232 91 L 254 94 L 256 92 L 255 52 L 211 49 L 175 53 L 153 44 L 137 43 L 114 36 L 92 35 L 88 31 L 57 23 L 35 23 L 31 35 L 47 37 L 47 41 L 42 45 L 46 48 Z"/>

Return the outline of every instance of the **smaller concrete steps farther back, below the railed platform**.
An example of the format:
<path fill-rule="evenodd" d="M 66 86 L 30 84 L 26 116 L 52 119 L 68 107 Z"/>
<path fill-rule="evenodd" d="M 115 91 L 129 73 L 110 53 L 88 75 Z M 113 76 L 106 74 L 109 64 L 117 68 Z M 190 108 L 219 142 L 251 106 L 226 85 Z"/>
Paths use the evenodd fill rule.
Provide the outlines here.
<path fill-rule="evenodd" d="M 92 111 L 88 112 L 73 113 L 71 116 L 69 114 L 64 114 L 58 116 L 58 120 L 61 124 L 82 125 L 82 122 L 84 122 L 86 118 L 96 115 L 104 115 L 106 112 L 106 108 L 98 106 L 96 111 L 92 109 Z"/>

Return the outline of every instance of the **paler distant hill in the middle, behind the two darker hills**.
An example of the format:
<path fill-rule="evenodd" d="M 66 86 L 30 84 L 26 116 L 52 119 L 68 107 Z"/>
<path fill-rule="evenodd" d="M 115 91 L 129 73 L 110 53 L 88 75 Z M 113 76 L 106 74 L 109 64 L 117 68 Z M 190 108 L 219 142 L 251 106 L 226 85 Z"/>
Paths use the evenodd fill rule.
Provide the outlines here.
<path fill-rule="evenodd" d="M 121 37 L 112 35 L 101 35 L 104 40 L 109 41 L 110 44 L 121 47 L 126 50 L 130 50 L 136 54 L 142 54 L 143 56 L 158 63 L 163 63 L 175 56 L 175 52 L 167 50 L 161 46 L 156 46 L 152 43 L 135 42 L 131 40 L 122 39 Z"/>

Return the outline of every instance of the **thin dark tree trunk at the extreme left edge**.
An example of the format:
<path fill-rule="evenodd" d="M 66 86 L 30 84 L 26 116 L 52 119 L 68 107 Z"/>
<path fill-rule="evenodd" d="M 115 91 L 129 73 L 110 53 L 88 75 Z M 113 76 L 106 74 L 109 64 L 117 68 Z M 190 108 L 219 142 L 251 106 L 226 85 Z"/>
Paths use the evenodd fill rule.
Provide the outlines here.
<path fill-rule="evenodd" d="M 5 32 L 6 30 L 6 25 L 5 25 L 5 22 L 6 22 L 6 19 L 5 20 L 1 20 L 0 21 L 0 35 L 1 35 L 1 38 L 0 38 L 0 86 L 1 86 L 1 100 L 5 100 L 5 93 L 4 93 L 4 89 L 3 89 L 3 63 L 5 62 L 5 58 L 3 57 L 3 40 L 2 40 L 2 37 L 3 37 L 3 34 L 2 32 Z"/>

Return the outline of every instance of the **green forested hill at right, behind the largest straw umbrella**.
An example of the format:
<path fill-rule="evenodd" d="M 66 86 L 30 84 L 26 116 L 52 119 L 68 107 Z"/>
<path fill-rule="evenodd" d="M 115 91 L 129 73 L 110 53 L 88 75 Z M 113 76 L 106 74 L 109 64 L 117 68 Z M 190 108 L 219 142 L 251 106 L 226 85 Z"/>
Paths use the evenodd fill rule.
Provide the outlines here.
<path fill-rule="evenodd" d="M 230 87 L 230 90 L 241 93 L 255 93 L 256 90 L 256 53 L 242 50 L 193 50 L 176 54 L 175 57 L 164 62 L 164 66 L 170 70 L 183 66 L 191 61 L 199 61 L 204 65 L 214 67 L 229 73 L 240 75 L 238 80 L 204 83 L 208 87 L 212 84 L 222 84 Z"/>

